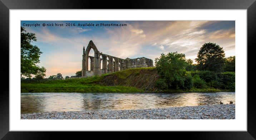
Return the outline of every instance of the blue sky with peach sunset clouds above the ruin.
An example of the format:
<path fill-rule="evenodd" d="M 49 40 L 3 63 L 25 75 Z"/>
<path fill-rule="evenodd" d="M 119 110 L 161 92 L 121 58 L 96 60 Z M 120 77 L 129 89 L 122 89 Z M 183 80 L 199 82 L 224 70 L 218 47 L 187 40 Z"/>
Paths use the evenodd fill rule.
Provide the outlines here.
<path fill-rule="evenodd" d="M 94 26 L 78 26 L 86 23 Z M 96 26 L 101 23 L 127 26 Z M 21 26 L 36 35 L 31 44 L 43 52 L 38 65 L 46 68 L 46 78 L 80 71 L 83 46 L 86 49 L 90 40 L 100 52 L 123 59 L 146 57 L 154 62 L 161 53 L 177 51 L 196 63 L 200 47 L 208 42 L 223 47 L 226 57 L 235 56 L 235 21 L 21 21 Z"/>

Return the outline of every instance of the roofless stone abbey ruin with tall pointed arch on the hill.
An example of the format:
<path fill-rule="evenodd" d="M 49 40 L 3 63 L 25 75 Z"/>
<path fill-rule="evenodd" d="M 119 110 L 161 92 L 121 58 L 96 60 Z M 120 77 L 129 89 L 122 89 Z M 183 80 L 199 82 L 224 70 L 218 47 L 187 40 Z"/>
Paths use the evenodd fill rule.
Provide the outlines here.
<path fill-rule="evenodd" d="M 89 56 L 89 52 L 91 48 L 94 50 L 94 56 Z M 90 71 L 88 69 L 89 58 L 90 58 Z M 94 45 L 92 40 L 89 42 L 86 50 L 85 48 L 83 48 L 82 77 L 123 71 L 129 68 L 143 68 L 143 67 L 153 67 L 152 59 L 148 59 L 145 57 L 134 58 L 134 59 L 130 59 L 130 58 L 122 59 L 122 58 L 106 55 L 98 51 L 97 47 Z"/>

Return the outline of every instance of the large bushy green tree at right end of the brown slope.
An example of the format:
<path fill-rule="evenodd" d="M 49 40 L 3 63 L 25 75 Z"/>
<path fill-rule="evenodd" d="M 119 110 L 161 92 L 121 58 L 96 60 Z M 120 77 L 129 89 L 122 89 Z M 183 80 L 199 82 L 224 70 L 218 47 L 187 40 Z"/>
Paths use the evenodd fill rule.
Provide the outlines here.
<path fill-rule="evenodd" d="M 169 88 L 184 88 L 184 76 L 186 74 L 186 58 L 183 53 L 171 52 L 161 54 L 155 59 L 156 69 L 159 76 L 165 79 Z"/>

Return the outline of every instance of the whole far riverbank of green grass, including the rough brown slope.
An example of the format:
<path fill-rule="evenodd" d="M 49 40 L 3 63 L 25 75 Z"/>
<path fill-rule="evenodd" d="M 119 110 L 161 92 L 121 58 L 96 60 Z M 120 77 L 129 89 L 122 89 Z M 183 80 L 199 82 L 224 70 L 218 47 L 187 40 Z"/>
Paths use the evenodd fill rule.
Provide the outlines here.
<path fill-rule="evenodd" d="M 90 78 L 22 83 L 21 93 L 79 92 L 79 93 L 133 93 L 133 92 L 222 92 L 215 88 L 189 90 L 168 89 L 160 91 L 154 87 L 159 78 L 155 68 L 133 68 Z"/>

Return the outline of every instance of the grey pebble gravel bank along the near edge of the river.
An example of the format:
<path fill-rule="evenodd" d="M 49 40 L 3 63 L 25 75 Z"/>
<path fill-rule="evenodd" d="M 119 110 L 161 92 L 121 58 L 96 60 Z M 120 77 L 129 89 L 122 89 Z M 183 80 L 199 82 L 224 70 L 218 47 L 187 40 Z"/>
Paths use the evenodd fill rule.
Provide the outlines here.
<path fill-rule="evenodd" d="M 235 104 L 156 109 L 46 112 L 21 114 L 21 119 L 235 119 Z"/>

